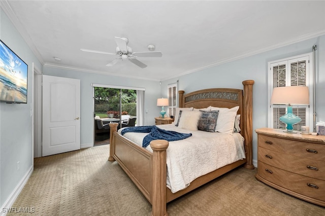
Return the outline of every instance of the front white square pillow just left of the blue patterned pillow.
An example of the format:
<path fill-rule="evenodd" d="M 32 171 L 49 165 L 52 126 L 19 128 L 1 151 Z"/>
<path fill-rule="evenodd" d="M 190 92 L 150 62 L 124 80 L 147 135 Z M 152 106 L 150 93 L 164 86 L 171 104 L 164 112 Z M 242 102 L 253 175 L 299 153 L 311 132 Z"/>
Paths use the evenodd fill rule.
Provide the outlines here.
<path fill-rule="evenodd" d="M 178 127 L 186 130 L 198 130 L 198 122 L 202 112 L 198 111 L 182 111 L 179 117 Z"/>

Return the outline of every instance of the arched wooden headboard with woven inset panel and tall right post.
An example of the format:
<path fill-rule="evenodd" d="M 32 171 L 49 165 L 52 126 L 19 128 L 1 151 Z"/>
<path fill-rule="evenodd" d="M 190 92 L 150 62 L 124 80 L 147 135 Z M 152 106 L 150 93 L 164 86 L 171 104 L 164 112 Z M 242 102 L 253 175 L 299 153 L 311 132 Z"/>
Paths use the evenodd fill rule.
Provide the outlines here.
<path fill-rule="evenodd" d="M 252 110 L 253 110 L 253 80 L 242 82 L 244 88 L 213 88 L 184 94 L 178 91 L 179 107 L 194 107 L 197 109 L 208 106 L 232 108 L 239 106 L 241 134 L 245 138 L 246 168 L 254 169 L 252 163 Z"/>

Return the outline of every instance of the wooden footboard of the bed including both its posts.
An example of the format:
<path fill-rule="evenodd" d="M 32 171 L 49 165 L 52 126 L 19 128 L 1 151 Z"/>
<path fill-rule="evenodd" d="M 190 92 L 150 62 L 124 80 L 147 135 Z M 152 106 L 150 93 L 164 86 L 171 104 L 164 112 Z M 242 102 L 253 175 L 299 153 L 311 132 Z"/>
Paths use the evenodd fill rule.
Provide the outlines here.
<path fill-rule="evenodd" d="M 153 153 L 135 145 L 118 134 L 118 123 L 110 123 L 109 161 L 117 161 L 152 205 L 152 215 L 168 215 L 166 206 L 167 162 L 166 150 L 169 142 L 153 140 Z"/>

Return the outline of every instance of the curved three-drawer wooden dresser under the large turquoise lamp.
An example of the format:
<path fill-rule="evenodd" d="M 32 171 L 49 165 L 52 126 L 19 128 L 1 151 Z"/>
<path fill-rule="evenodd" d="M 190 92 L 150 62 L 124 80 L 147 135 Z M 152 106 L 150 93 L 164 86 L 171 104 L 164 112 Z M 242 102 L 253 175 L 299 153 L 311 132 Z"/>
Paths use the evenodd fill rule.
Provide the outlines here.
<path fill-rule="evenodd" d="M 325 206 L 325 136 L 256 129 L 261 181 L 297 198 Z"/>

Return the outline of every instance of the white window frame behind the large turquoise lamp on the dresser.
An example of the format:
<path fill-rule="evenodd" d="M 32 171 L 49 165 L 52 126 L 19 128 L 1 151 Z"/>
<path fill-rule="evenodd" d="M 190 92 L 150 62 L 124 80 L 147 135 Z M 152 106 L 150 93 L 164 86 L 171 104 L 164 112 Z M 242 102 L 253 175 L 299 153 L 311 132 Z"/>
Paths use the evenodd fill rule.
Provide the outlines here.
<path fill-rule="evenodd" d="M 285 64 L 285 86 L 291 85 L 291 78 L 290 78 L 290 63 L 297 62 L 301 60 L 306 60 L 306 86 L 309 87 L 309 105 L 293 105 L 294 114 L 295 110 L 299 108 L 306 108 L 306 126 L 313 127 L 313 53 L 306 53 L 302 55 L 292 56 L 284 59 L 279 59 L 275 61 L 268 62 L 268 127 L 269 128 L 277 128 L 273 125 L 273 108 L 274 107 L 285 107 L 285 113 L 287 112 L 286 107 L 287 105 L 282 104 L 271 104 L 271 96 L 273 92 L 273 67 L 275 65 Z M 298 109 L 297 109 L 298 108 Z M 280 121 L 280 120 L 279 120 Z M 299 123 L 298 123 L 299 124 Z M 284 124 L 285 126 L 285 124 Z M 294 125 L 295 126 L 295 125 Z M 302 124 L 299 125 L 297 128 L 301 131 Z M 282 129 L 282 128 L 281 128 Z M 295 129 L 296 130 L 296 129 Z"/>

